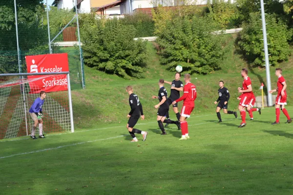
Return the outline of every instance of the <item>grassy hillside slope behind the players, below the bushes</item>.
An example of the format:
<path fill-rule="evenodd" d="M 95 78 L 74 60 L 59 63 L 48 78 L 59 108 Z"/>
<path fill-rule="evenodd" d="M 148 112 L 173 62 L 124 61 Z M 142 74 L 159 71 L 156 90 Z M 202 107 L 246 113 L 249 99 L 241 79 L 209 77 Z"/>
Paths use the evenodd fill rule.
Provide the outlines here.
<path fill-rule="evenodd" d="M 196 108 L 193 115 L 199 113 L 214 113 L 215 105 L 213 102 L 217 99 L 217 89 L 219 80 L 225 82 L 225 86 L 230 91 L 229 110 L 236 110 L 239 94 L 237 87 L 242 85 L 242 78 L 240 75 L 241 69 L 246 67 L 249 69 L 249 76 L 251 77 L 253 92 L 255 96 L 261 95 L 259 87 L 263 82 L 266 85 L 265 68 L 251 67 L 242 55 L 235 52 L 234 37 L 227 35 L 227 47 L 229 53 L 226 54 L 226 59 L 223 62 L 222 69 L 213 72 L 210 75 L 192 75 L 191 82 L 197 87 L 198 98 L 196 99 Z M 174 74 L 166 70 L 165 66 L 159 64 L 159 56 L 156 54 L 156 49 L 153 43 L 148 42 L 147 49 L 149 52 L 149 60 L 147 64 L 147 71 L 144 74 L 145 78 L 126 80 L 116 75 L 108 75 L 104 72 L 85 67 L 85 90 L 72 91 L 74 122 L 76 128 L 90 128 L 97 127 L 101 123 L 112 123 L 127 121 L 126 115 L 129 112 L 128 94 L 126 93 L 126 86 L 132 85 L 134 93 L 136 93 L 143 104 L 146 120 L 155 120 L 156 109 L 154 105 L 157 104 L 156 99 L 152 99 L 152 95 L 158 93 L 158 80 L 164 78 L 171 81 Z M 292 58 L 288 62 L 280 64 L 284 71 L 284 77 L 287 78 L 288 86 L 292 86 L 293 82 L 291 75 L 293 73 Z M 274 68 L 271 67 L 271 81 L 272 88 L 275 87 L 277 78 L 274 76 Z M 197 78 L 197 79 L 195 79 Z M 181 80 L 184 82 L 183 77 Z M 169 89 L 166 84 L 166 88 Z M 266 92 L 266 89 L 264 90 Z M 169 91 L 168 91 L 169 92 Z M 288 103 L 290 98 L 293 98 L 291 88 L 288 88 Z M 179 104 L 181 109 L 181 104 Z M 170 109 L 170 117 L 175 118 L 175 115 Z M 216 119 L 216 118 L 215 118 Z"/>

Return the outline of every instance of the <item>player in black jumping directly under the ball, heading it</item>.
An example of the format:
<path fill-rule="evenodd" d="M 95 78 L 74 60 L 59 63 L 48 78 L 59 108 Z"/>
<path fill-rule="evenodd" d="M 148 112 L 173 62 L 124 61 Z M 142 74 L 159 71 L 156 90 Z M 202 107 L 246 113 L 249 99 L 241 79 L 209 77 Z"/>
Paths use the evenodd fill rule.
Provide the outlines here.
<path fill-rule="evenodd" d="M 175 74 L 175 80 L 172 82 L 164 81 L 165 83 L 171 85 L 171 94 L 169 98 L 167 99 L 168 104 L 171 105 L 172 102 L 178 98 L 180 98 L 180 92 L 183 91 L 183 82 L 180 80 L 181 74 L 176 73 Z M 177 120 L 180 120 L 180 113 L 178 112 L 178 104 L 176 103 L 173 105 L 173 111 L 176 114 Z M 169 112 L 167 112 L 167 119 L 169 119 Z M 166 123 L 165 127 L 168 126 L 169 123 Z"/>

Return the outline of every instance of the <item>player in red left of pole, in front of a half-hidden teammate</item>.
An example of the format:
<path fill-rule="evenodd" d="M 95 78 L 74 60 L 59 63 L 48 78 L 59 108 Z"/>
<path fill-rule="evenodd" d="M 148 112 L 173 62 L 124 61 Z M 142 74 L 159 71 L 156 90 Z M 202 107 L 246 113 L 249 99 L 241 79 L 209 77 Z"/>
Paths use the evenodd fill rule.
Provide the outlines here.
<path fill-rule="evenodd" d="M 247 111 L 251 110 L 251 105 L 249 104 L 251 101 L 251 94 L 252 94 L 252 86 L 251 86 L 251 79 L 248 77 L 248 70 L 246 68 L 242 68 L 241 76 L 244 78 L 242 82 L 242 88 L 238 87 L 238 92 L 243 93 L 242 98 L 239 102 L 238 109 L 240 111 L 240 115 L 242 118 L 242 122 L 238 126 L 238 128 L 242 128 L 246 126 L 246 112 L 245 107 L 247 107 Z"/>

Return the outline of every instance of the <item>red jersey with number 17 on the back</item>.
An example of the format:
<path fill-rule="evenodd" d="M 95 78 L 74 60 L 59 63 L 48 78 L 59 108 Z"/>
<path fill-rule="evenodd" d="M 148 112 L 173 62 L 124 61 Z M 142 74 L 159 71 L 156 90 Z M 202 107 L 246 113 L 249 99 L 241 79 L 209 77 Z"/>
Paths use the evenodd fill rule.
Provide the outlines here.
<path fill-rule="evenodd" d="M 177 99 L 176 102 L 184 100 L 183 101 L 184 106 L 194 107 L 194 100 L 196 99 L 195 85 L 192 84 L 191 82 L 188 82 L 186 83 L 186 85 L 184 85 L 183 91 L 184 91 L 183 96 Z"/>

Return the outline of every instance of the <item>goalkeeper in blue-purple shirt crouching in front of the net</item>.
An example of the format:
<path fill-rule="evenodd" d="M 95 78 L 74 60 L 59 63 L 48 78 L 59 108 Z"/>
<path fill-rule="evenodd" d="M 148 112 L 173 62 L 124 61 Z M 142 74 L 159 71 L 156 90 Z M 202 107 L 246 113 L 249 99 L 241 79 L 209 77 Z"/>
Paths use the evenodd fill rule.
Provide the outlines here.
<path fill-rule="evenodd" d="M 34 121 L 32 133 L 31 133 L 31 138 L 33 139 L 37 139 L 37 137 L 35 137 L 35 133 L 36 133 L 36 128 L 38 124 L 39 124 L 39 135 L 40 135 L 39 138 L 45 138 L 42 133 L 42 117 L 43 117 L 42 105 L 45 101 L 45 98 L 46 98 L 46 92 L 41 91 L 40 98 L 35 99 L 33 105 L 29 109 L 29 115 L 32 117 Z"/>

